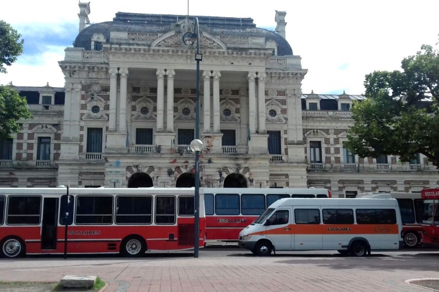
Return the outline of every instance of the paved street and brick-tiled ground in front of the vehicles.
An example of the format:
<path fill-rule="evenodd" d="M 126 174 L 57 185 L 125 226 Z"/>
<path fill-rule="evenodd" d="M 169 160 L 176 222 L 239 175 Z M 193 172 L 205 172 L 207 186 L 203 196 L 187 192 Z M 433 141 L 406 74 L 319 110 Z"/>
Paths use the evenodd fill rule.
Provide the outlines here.
<path fill-rule="evenodd" d="M 439 278 L 435 249 L 373 252 L 345 258 L 336 251 L 283 252 L 261 258 L 238 248 L 119 257 L 32 257 L 0 261 L 0 281 L 59 281 L 64 275 L 98 275 L 120 291 L 429 291 L 404 283 Z M 431 290 L 430 290 L 431 291 Z"/>

